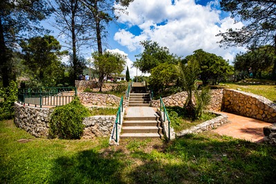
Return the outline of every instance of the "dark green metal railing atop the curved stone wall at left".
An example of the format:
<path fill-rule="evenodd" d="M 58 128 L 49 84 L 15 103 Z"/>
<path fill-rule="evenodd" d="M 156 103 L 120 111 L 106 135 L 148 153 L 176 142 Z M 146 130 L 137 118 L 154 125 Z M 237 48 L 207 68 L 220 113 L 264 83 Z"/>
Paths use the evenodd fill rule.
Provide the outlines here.
<path fill-rule="evenodd" d="M 77 96 L 77 88 L 28 88 L 19 89 L 17 101 L 23 105 L 59 106 L 70 103 Z"/>

